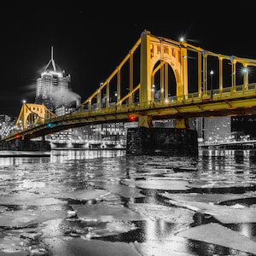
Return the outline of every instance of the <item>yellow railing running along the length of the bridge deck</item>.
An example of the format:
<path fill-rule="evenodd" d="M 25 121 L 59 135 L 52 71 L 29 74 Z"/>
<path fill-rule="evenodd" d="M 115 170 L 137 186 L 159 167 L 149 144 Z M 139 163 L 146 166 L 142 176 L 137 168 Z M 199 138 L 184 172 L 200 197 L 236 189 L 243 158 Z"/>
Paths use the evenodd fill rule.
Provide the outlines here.
<path fill-rule="evenodd" d="M 20 131 L 14 131 L 10 136 L 19 136 L 23 131 L 36 131 L 37 129 L 45 129 L 50 127 L 50 124 L 60 125 L 71 123 L 75 119 L 87 119 L 93 121 L 93 119 L 108 119 L 114 120 L 114 114 L 122 113 L 124 119 L 125 116 L 128 120 L 128 116 L 131 113 L 138 113 L 140 111 L 154 110 L 154 108 L 182 108 L 183 106 L 192 106 L 193 104 L 197 106 L 198 104 L 204 103 L 219 103 L 221 101 L 229 101 L 233 99 L 243 99 L 243 98 L 255 98 L 256 96 L 256 84 L 242 84 L 236 85 L 236 87 L 224 87 L 222 90 L 213 89 L 207 90 L 205 94 L 199 92 L 189 93 L 184 96 L 169 96 L 164 99 L 152 99 L 149 102 L 133 102 L 129 104 L 123 102 L 122 105 L 118 105 L 113 102 L 108 108 L 94 108 L 94 109 L 84 109 L 84 111 L 77 111 L 73 113 L 67 113 L 62 116 L 55 116 L 54 118 L 44 119 L 44 121 L 38 122 L 36 124 L 31 124 L 27 126 L 26 129 Z M 212 105 L 212 108 L 214 105 Z M 184 109 L 185 111 L 185 109 Z M 107 117 L 108 116 L 108 117 Z M 105 117 L 105 118 L 104 118 Z"/>

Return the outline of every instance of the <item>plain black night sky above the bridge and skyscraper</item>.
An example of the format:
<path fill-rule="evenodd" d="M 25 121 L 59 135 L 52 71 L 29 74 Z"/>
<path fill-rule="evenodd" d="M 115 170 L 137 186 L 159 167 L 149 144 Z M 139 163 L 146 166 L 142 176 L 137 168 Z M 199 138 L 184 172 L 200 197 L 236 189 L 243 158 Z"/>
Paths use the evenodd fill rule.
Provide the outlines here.
<path fill-rule="evenodd" d="M 2 4 L 0 114 L 33 103 L 50 59 L 82 102 L 113 73 L 144 30 L 224 55 L 256 59 L 253 1 L 20 1 Z M 205 3 L 202 5 L 201 3 Z M 173 5 L 174 4 L 174 5 Z M 139 5 L 139 6 L 138 6 Z"/>

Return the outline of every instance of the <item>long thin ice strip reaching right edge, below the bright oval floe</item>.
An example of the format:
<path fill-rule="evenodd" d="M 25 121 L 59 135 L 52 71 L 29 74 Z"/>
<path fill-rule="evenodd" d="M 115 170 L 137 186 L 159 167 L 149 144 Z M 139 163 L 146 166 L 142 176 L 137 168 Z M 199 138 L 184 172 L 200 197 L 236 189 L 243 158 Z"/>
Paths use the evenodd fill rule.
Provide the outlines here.
<path fill-rule="evenodd" d="M 198 194 L 198 193 L 186 193 L 186 194 L 170 194 L 160 193 L 159 195 L 164 196 L 168 199 L 176 200 L 176 201 L 197 201 L 197 202 L 212 202 L 212 203 L 220 203 L 224 201 L 233 201 L 240 199 L 247 199 L 251 197 L 255 197 L 255 195 L 240 195 L 240 194 Z"/>

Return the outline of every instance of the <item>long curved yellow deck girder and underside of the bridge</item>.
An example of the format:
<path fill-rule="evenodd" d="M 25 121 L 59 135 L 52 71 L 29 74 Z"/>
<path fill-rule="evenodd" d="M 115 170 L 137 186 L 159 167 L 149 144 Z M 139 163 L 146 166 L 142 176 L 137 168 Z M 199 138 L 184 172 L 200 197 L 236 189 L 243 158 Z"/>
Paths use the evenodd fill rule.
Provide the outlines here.
<path fill-rule="evenodd" d="M 239 104 L 241 107 L 239 107 Z M 253 105 L 255 104 L 255 106 Z M 236 106 L 237 105 L 237 106 Z M 84 125 L 99 125 L 106 123 L 129 122 L 129 117 L 134 115 L 136 119 L 150 117 L 150 121 L 163 119 L 192 119 L 196 117 L 214 116 L 236 116 L 256 114 L 256 100 L 244 100 L 243 102 L 205 102 L 189 103 L 183 106 L 170 106 L 167 104 L 154 105 L 154 108 L 116 108 L 108 109 L 108 113 L 100 111 L 90 113 L 76 113 L 67 116 L 65 119 L 60 117 L 51 119 L 51 125 L 32 125 L 24 131 L 19 131 L 6 137 L 5 141 L 15 139 L 30 140 L 36 137 L 44 137 L 48 134 L 67 129 L 73 129 Z M 185 127 L 179 127 L 185 128 Z"/>

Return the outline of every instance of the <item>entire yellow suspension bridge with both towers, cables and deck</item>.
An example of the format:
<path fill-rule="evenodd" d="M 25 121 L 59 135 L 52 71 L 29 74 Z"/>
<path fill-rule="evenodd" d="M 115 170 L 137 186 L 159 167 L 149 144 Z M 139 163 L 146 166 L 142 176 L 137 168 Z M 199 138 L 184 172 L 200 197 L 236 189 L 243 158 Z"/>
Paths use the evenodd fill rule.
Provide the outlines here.
<path fill-rule="evenodd" d="M 44 105 L 23 104 L 17 130 L 4 141 L 23 140 L 90 124 L 127 122 L 152 127 L 176 119 L 187 129 L 195 117 L 256 113 L 256 60 L 216 54 L 185 41 L 144 31 L 116 69 L 72 113 L 56 116 Z"/>

